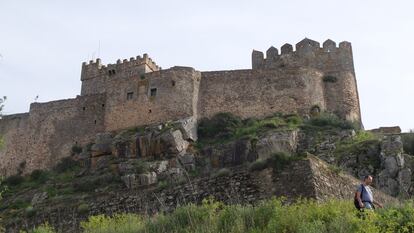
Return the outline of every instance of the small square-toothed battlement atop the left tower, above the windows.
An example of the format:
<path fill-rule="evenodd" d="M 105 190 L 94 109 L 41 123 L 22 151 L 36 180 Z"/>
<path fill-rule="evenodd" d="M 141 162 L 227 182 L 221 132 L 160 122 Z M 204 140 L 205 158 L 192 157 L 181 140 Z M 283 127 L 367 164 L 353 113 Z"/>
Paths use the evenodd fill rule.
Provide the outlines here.
<path fill-rule="evenodd" d="M 149 56 L 131 57 L 128 59 L 118 59 L 114 64 L 103 65 L 100 58 L 90 60 L 89 63 L 82 63 L 81 80 L 93 79 L 99 76 L 115 75 L 116 73 L 137 70 L 139 73 L 148 73 L 160 70 L 159 67 Z"/>

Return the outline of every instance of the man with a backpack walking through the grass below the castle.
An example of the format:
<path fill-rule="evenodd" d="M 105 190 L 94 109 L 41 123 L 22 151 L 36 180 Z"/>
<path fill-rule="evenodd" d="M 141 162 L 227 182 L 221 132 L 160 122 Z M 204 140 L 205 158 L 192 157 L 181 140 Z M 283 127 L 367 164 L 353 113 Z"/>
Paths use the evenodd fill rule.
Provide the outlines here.
<path fill-rule="evenodd" d="M 359 205 L 359 209 L 375 209 L 374 204 L 382 208 L 382 205 L 374 200 L 371 188 L 369 187 L 370 184 L 372 184 L 372 176 L 367 175 L 356 191 L 355 202 Z"/>

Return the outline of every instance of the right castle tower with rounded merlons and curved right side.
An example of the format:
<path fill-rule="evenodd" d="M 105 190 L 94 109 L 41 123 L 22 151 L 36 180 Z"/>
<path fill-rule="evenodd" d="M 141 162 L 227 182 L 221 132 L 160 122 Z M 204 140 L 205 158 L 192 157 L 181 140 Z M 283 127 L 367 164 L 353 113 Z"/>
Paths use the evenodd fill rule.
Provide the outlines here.
<path fill-rule="evenodd" d="M 336 46 L 330 39 L 322 47 L 308 38 L 293 46 L 284 44 L 278 54 L 273 46 L 266 52 L 254 50 L 252 69 L 300 69 L 315 68 L 324 74 L 326 111 L 334 112 L 343 119 L 361 122 L 359 97 L 355 79 L 351 43 L 343 41 Z"/>

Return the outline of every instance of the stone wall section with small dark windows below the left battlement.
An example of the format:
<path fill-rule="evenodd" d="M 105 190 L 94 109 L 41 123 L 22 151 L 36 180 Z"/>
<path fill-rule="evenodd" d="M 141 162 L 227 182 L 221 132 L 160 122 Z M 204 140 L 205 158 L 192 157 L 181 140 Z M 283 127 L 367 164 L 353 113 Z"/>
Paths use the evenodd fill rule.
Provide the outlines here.
<path fill-rule="evenodd" d="M 105 130 L 194 116 L 200 76 L 193 68 L 173 67 L 145 76 L 108 79 Z"/>

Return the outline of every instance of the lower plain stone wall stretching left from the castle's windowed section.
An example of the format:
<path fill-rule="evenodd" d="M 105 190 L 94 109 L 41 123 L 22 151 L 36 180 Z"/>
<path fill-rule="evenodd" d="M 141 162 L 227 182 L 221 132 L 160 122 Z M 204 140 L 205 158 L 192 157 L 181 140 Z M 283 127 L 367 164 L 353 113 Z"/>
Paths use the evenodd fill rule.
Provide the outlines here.
<path fill-rule="evenodd" d="M 33 103 L 30 113 L 2 119 L 1 174 L 49 168 L 70 155 L 73 145 L 88 143 L 104 130 L 104 103 L 102 95 Z"/>

